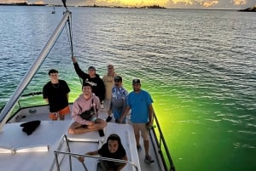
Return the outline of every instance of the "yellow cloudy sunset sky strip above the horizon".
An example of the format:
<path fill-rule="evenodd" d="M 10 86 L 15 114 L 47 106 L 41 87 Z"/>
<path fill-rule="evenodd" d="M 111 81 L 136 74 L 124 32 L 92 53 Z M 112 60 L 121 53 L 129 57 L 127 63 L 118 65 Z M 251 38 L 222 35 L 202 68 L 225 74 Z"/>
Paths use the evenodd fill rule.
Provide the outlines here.
<path fill-rule="evenodd" d="M 0 3 L 49 3 L 61 4 L 61 0 L 0 0 Z M 141 7 L 159 5 L 168 9 L 246 9 L 256 5 L 256 0 L 67 0 L 67 5 L 105 5 Z"/>

